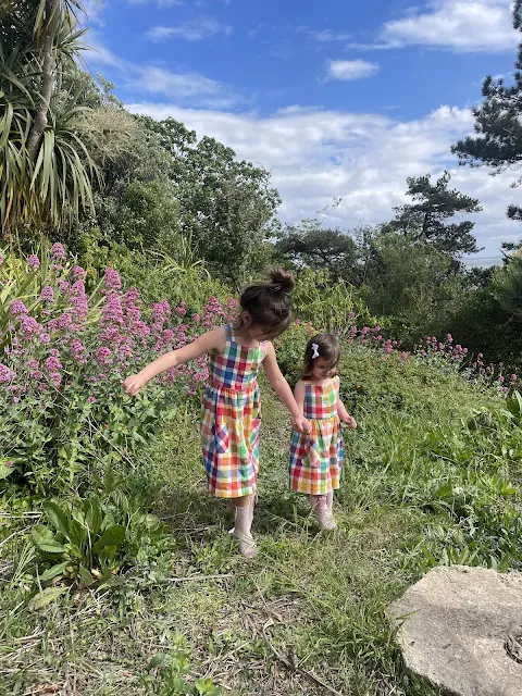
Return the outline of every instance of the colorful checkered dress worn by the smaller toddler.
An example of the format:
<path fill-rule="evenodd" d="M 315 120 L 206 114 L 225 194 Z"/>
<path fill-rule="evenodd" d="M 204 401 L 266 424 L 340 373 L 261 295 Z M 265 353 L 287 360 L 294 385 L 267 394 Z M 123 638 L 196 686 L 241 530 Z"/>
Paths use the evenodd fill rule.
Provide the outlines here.
<path fill-rule="evenodd" d="M 304 418 L 311 422 L 312 431 L 291 434 L 291 490 L 324 496 L 339 487 L 344 449 L 338 397 L 338 377 L 324 384 L 304 383 Z"/>

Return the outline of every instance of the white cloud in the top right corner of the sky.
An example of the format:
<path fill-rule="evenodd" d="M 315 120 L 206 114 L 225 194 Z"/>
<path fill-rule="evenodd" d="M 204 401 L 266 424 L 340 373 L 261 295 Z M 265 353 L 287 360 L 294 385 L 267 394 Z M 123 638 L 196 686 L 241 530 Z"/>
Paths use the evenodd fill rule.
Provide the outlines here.
<path fill-rule="evenodd" d="M 428 46 L 457 52 L 511 50 L 520 41 L 512 27 L 509 0 L 430 0 L 403 17 L 386 22 L 368 49 Z"/>

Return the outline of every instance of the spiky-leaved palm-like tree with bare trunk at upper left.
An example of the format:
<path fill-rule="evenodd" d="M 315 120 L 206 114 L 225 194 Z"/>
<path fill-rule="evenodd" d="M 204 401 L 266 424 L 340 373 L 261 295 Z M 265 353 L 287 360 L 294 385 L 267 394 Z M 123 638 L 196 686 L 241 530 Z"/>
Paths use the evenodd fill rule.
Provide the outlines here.
<path fill-rule="evenodd" d="M 77 0 L 13 0 L 0 11 L 2 232 L 64 224 L 92 206 L 96 166 L 77 96 L 60 100 L 83 35 Z"/>

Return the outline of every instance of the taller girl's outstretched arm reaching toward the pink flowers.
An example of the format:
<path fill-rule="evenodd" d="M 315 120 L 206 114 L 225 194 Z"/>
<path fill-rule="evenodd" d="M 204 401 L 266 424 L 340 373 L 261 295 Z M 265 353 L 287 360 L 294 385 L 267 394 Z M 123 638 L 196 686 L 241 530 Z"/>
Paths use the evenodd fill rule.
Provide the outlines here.
<path fill-rule="evenodd" d="M 188 346 L 184 346 L 178 350 L 171 350 L 165 352 L 164 356 L 157 358 L 144 368 L 138 374 L 134 374 L 127 377 L 123 383 L 123 388 L 128 396 L 136 396 L 144 388 L 144 386 L 156 377 L 156 375 L 165 372 L 170 368 L 176 368 L 183 365 L 189 360 L 195 360 L 203 356 L 207 352 L 223 352 L 226 343 L 225 328 L 214 328 L 207 334 L 199 336 L 196 340 Z"/>

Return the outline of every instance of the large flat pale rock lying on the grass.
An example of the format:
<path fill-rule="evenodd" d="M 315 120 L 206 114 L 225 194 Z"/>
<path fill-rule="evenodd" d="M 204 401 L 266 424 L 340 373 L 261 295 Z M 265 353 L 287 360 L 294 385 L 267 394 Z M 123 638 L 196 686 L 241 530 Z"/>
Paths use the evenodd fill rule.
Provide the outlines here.
<path fill-rule="evenodd" d="M 522 573 L 434 568 L 394 601 L 407 667 L 458 696 L 522 696 Z"/>

